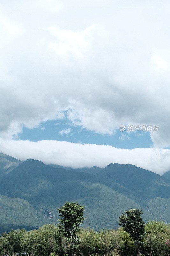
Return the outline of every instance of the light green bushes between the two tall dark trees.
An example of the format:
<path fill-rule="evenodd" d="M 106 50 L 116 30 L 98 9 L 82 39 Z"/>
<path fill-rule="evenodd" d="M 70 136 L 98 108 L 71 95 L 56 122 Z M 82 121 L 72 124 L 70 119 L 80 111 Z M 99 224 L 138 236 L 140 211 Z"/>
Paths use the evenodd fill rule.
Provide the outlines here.
<path fill-rule="evenodd" d="M 91 237 L 91 241 L 88 239 L 89 237 Z M 136 249 L 132 238 L 122 228 L 102 229 L 100 232 L 82 228 L 80 230 L 80 250 L 82 255 L 90 255 L 93 252 L 96 256 L 113 256 L 132 254 Z"/>

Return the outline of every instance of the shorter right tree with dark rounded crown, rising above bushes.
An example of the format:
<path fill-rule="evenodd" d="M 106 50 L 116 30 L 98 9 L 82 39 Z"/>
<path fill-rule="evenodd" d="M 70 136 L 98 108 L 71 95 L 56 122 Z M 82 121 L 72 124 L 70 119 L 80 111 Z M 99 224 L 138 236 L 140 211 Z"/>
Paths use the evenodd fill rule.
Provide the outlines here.
<path fill-rule="evenodd" d="M 140 248 L 144 246 L 143 238 L 145 237 L 145 223 L 141 217 L 143 212 L 138 209 L 130 209 L 129 211 L 125 211 L 125 213 L 126 215 L 123 213 L 119 217 L 119 225 L 129 233 L 135 242 L 138 248 L 137 255 L 139 256 L 141 255 Z"/>

